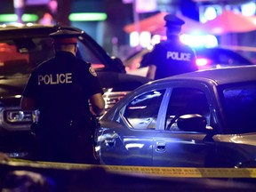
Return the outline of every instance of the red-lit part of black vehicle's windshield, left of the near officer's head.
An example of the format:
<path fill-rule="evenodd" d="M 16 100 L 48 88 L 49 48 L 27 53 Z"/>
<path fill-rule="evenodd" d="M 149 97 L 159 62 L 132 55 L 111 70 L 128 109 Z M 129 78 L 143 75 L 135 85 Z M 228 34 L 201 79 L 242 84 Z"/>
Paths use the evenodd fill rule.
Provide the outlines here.
<path fill-rule="evenodd" d="M 53 56 L 52 38 L 20 38 L 0 42 L 0 76 L 30 74 Z"/>

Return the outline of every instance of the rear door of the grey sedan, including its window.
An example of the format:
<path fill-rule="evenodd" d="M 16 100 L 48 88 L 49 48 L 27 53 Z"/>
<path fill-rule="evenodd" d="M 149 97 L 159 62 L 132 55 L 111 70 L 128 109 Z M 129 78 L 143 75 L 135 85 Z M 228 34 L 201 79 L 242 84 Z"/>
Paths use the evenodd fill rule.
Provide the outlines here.
<path fill-rule="evenodd" d="M 157 116 L 165 90 L 154 90 L 131 97 L 119 116 L 105 127 L 100 142 L 102 164 L 152 165 Z"/>

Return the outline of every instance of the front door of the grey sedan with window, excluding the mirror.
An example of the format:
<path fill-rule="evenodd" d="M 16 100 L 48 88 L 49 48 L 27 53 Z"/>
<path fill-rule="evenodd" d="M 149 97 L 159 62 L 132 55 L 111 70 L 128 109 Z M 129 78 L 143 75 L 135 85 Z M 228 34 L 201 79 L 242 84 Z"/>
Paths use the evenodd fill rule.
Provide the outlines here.
<path fill-rule="evenodd" d="M 180 130 L 176 123 L 179 116 L 199 114 L 210 124 L 211 105 L 205 92 L 198 88 L 176 87 L 170 89 L 170 100 L 166 103 L 162 132 L 156 134 L 153 147 L 154 166 L 204 167 L 210 164 L 208 159 L 215 153 L 215 144 L 205 140 L 205 132 Z M 209 162 L 208 162 L 209 161 Z"/>

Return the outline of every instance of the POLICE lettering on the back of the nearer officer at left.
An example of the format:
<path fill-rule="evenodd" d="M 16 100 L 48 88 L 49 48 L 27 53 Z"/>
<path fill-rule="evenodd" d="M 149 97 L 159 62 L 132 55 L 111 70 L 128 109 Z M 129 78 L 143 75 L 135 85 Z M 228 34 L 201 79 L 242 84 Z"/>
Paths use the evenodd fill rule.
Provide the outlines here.
<path fill-rule="evenodd" d="M 41 84 L 72 84 L 72 73 L 39 75 L 38 85 Z"/>

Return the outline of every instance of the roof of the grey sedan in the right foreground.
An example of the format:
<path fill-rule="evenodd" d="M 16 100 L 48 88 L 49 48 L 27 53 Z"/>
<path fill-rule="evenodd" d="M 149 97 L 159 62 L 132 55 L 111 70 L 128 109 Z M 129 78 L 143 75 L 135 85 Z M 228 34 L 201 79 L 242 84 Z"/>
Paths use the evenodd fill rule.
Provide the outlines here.
<path fill-rule="evenodd" d="M 159 79 L 156 80 L 155 83 L 173 80 L 196 80 L 204 83 L 214 82 L 215 84 L 256 81 L 256 65 L 198 70 L 195 72 Z"/>

